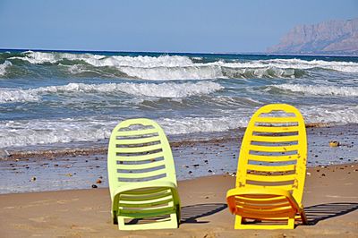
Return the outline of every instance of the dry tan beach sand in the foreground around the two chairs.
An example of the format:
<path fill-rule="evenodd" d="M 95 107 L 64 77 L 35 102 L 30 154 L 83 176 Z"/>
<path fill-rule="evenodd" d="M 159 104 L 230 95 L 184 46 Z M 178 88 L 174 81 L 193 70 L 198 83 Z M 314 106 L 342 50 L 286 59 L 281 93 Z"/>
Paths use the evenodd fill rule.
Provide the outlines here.
<path fill-rule="evenodd" d="M 0 195 L 0 237 L 358 237 L 358 164 L 312 167 L 303 205 L 310 225 L 294 230 L 234 230 L 226 191 L 234 177 L 179 182 L 178 229 L 119 231 L 112 225 L 107 189 Z"/>

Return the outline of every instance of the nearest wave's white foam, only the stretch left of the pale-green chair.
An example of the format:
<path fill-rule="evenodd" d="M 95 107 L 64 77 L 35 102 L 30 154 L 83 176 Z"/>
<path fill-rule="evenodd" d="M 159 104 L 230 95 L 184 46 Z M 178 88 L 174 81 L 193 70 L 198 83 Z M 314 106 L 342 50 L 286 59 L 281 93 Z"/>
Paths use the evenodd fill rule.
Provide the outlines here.
<path fill-rule="evenodd" d="M 0 123 L 0 148 L 108 138 L 115 122 L 95 119 L 8 121 Z"/>

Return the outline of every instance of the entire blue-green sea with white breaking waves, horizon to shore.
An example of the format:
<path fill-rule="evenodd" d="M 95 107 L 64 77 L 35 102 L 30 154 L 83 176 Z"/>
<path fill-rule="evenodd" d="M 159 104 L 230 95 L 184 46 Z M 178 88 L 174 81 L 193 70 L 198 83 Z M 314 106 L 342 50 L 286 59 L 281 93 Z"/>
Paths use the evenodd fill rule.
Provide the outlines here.
<path fill-rule="evenodd" d="M 358 123 L 357 83 L 357 57 L 1 50 L 0 148 L 103 142 L 132 117 L 210 137 L 268 103 Z"/>

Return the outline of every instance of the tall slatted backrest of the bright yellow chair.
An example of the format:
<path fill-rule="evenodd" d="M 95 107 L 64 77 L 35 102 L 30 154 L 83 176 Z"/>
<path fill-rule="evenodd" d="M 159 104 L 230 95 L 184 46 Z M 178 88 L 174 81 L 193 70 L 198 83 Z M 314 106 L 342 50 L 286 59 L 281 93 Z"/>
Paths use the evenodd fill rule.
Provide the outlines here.
<path fill-rule="evenodd" d="M 301 113 L 286 104 L 262 106 L 252 115 L 243 136 L 236 187 L 284 189 L 301 202 L 306 159 Z"/>

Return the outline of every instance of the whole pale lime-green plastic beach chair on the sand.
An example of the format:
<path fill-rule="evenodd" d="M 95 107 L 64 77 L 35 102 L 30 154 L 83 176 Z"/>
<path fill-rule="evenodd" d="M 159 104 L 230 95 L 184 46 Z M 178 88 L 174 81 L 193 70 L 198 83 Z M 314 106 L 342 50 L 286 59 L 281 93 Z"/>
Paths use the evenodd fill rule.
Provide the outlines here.
<path fill-rule="evenodd" d="M 166 134 L 149 119 L 115 126 L 107 157 L 112 217 L 120 230 L 177 228 L 180 199 Z"/>

